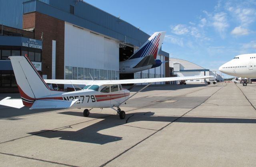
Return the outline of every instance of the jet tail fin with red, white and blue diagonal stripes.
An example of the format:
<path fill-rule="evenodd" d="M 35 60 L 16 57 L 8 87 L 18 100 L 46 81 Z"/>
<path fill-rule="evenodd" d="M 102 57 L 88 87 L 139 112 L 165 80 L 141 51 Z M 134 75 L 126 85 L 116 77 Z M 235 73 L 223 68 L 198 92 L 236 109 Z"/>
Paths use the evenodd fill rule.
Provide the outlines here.
<path fill-rule="evenodd" d="M 156 59 L 165 34 L 166 31 L 155 32 L 129 59 L 143 58 L 148 55 L 154 55 L 154 59 Z"/>

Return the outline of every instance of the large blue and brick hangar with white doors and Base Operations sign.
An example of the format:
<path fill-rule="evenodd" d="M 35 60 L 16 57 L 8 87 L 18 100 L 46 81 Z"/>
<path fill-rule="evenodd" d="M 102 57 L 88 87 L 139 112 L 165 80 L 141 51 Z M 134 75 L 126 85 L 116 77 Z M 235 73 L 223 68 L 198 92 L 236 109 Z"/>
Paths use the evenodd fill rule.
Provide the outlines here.
<path fill-rule="evenodd" d="M 119 79 L 119 61 L 128 59 L 150 37 L 82 0 L 1 0 L 0 16 L 0 24 L 4 25 L 0 26 L 4 29 L 0 33 L 0 87 L 15 86 L 2 84 L 3 78 L 4 82 L 10 78 L 2 73 L 13 73 L 7 57 L 15 50 L 22 55 L 25 49 L 40 65 L 44 79 L 91 79 L 89 73 L 95 80 Z M 10 33 L 15 29 L 14 35 Z M 26 35 L 23 30 L 32 34 Z M 14 36 L 20 37 L 12 43 Z M 9 42 L 4 43 L 3 37 Z M 22 41 L 28 43 L 22 45 Z M 127 45 L 123 46 L 124 42 Z M 35 45 L 41 47 L 30 47 Z M 160 50 L 157 59 L 166 61 L 169 53 Z M 131 76 L 134 78 L 134 74 Z M 135 78 L 168 76 L 169 63 L 163 63 Z"/>

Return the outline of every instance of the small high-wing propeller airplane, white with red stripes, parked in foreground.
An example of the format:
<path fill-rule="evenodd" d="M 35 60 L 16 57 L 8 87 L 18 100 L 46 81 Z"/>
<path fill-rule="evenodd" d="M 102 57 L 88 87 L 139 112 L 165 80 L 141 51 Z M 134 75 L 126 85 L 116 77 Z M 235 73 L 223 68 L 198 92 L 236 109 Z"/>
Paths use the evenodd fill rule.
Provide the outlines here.
<path fill-rule="evenodd" d="M 140 92 L 151 83 L 178 81 L 186 79 L 205 79 L 213 76 L 199 77 L 169 77 L 150 79 L 128 80 L 48 80 L 49 83 L 58 84 L 85 84 L 82 90 L 73 92 L 61 92 L 51 90 L 42 77 L 36 71 L 34 65 L 24 56 L 10 56 L 14 75 L 18 84 L 21 99 L 6 97 L 0 101 L 0 105 L 14 108 L 23 106 L 30 109 L 38 108 L 112 108 L 116 110 L 121 119 L 125 118 L 125 112 L 120 105 Z M 149 83 L 138 92 L 130 96 L 130 91 L 122 88 L 121 84 Z M 84 116 L 89 116 L 91 109 L 84 110 Z"/>

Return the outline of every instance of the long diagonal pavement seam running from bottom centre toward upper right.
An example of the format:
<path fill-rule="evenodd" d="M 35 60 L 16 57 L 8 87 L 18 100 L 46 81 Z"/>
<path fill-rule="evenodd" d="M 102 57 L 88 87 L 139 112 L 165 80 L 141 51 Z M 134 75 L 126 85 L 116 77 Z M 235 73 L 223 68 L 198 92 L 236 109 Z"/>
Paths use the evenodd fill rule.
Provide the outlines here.
<path fill-rule="evenodd" d="M 227 86 L 227 84 L 226 84 L 225 86 Z M 224 88 L 225 86 L 223 86 L 223 87 L 219 88 L 218 90 L 216 90 L 212 95 L 214 95 L 216 92 L 218 92 L 220 89 Z M 200 89 L 200 90 L 201 90 L 201 89 Z M 199 90 L 198 90 L 198 91 L 199 91 Z M 210 97 L 212 97 L 212 95 L 209 96 L 206 100 L 208 100 Z M 204 100 L 202 103 L 204 103 L 206 100 Z M 200 103 L 198 106 L 200 106 L 202 103 Z M 120 157 L 121 155 L 123 155 L 124 153 L 126 153 L 127 151 L 129 151 L 130 149 L 136 147 L 137 145 L 139 145 L 140 143 L 142 143 L 142 142 L 145 141 L 146 139 L 148 139 L 148 138 L 150 138 L 151 136 L 153 136 L 154 134 L 160 132 L 161 130 L 163 130 L 164 128 L 166 128 L 167 126 L 169 126 L 170 124 L 172 124 L 173 122 L 176 122 L 178 119 L 182 118 L 183 116 L 185 116 L 185 115 L 188 114 L 190 111 L 192 111 L 192 110 L 194 110 L 195 108 L 197 108 L 198 106 L 192 108 L 192 109 L 189 110 L 188 112 L 184 113 L 182 116 L 179 116 L 178 118 L 176 118 L 176 119 L 173 120 L 172 122 L 168 123 L 167 125 L 163 126 L 163 127 L 160 128 L 159 130 L 157 130 L 156 132 L 154 132 L 153 134 L 147 136 L 146 138 L 142 139 L 142 140 L 139 141 L 138 143 L 134 144 L 132 147 L 130 147 L 130 148 L 124 150 L 122 153 L 118 154 L 116 157 L 114 157 L 114 158 L 110 159 L 109 161 L 107 161 L 106 163 L 100 165 L 100 167 L 106 166 L 106 165 L 107 165 L 108 163 L 110 163 L 111 161 L 114 161 L 115 159 L 117 159 L 118 157 Z"/>

